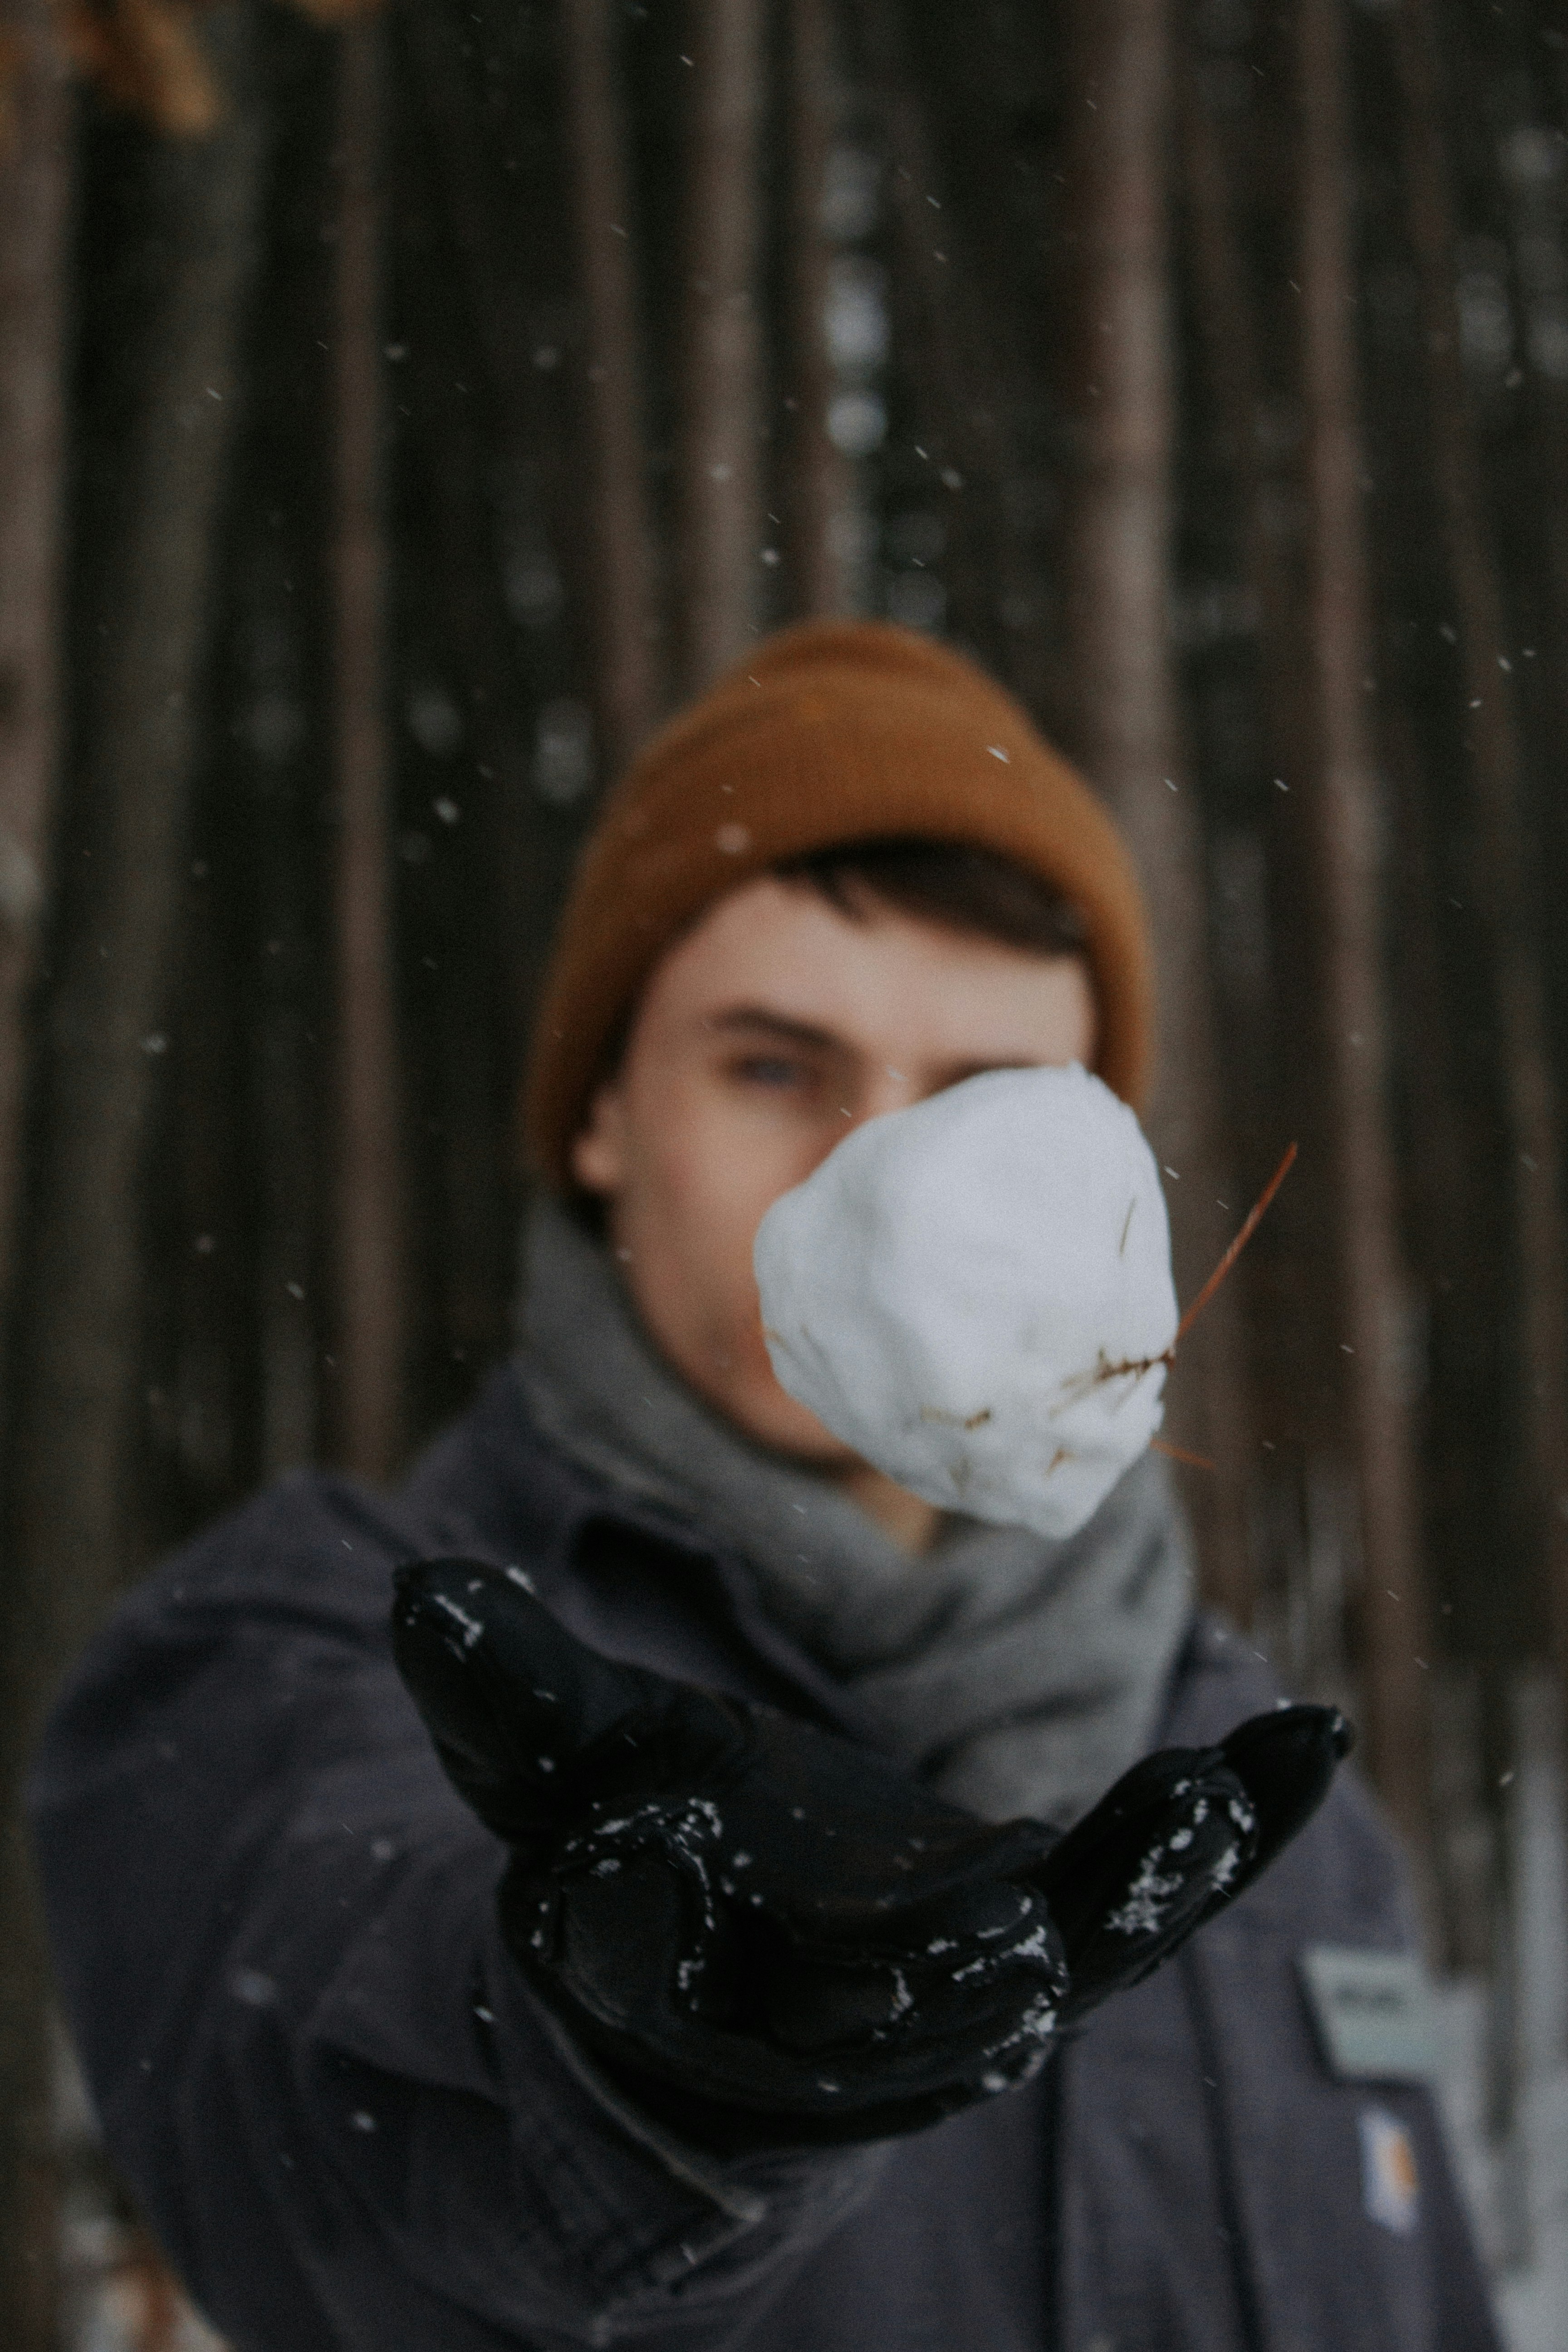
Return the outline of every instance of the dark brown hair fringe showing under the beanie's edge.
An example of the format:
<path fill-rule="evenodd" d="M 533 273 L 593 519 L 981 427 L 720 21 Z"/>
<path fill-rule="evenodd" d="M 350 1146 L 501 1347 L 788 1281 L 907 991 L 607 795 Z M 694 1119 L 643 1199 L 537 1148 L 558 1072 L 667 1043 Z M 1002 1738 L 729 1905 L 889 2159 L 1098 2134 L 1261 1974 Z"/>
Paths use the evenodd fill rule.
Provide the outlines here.
<path fill-rule="evenodd" d="M 773 866 L 780 882 L 804 882 L 842 915 L 865 898 L 947 931 L 971 931 L 1030 955 L 1081 955 L 1086 924 L 1077 906 L 999 849 L 933 842 L 919 835 L 837 842 Z"/>

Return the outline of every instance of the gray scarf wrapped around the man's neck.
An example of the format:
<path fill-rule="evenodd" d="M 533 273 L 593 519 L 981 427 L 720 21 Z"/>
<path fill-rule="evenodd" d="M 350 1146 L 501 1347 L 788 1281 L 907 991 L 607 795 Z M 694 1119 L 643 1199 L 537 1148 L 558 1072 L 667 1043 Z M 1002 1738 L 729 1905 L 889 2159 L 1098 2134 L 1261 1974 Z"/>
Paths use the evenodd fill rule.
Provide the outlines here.
<path fill-rule="evenodd" d="M 1067 1543 L 950 1517 L 914 1557 L 712 1414 L 644 1336 L 609 1251 L 548 1200 L 529 1221 L 517 1371 L 564 1454 L 741 1555 L 773 1623 L 954 1804 L 1070 1823 L 1150 1745 L 1192 1616 L 1154 1454 Z"/>

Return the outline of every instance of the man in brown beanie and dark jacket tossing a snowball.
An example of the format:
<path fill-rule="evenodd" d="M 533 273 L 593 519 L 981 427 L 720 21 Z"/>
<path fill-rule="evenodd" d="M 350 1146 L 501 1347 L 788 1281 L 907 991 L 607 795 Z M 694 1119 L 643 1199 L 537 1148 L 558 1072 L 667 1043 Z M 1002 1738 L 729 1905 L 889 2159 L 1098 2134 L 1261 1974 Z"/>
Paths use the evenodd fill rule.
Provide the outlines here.
<path fill-rule="evenodd" d="M 943 1839 L 1011 1839 L 1006 1886 L 1039 1891 L 1053 1851 L 1018 1816 L 1084 1818 L 1157 1743 L 1211 1769 L 1274 1705 L 1194 1616 L 1154 1458 L 1067 1543 L 943 1517 L 785 1397 L 759 1331 L 757 1221 L 851 1127 L 1013 1065 L 1086 1061 L 1135 1101 L 1147 1037 L 1110 823 L 1004 694 L 922 640 L 773 640 L 611 797 L 538 1021 L 527 1131 L 548 1192 L 515 1364 L 395 1501 L 301 1477 L 165 1566 L 89 1653 L 35 1773 L 108 2147 L 237 2352 L 1490 2352 L 1408 2042 L 1349 2042 L 1312 1992 L 1316 1955 L 1408 1999 L 1399 1870 L 1354 1785 L 1044 2070 L 1013 2037 L 983 2077 L 952 2060 L 877 2107 L 882 2053 L 922 2056 L 893 2002 L 867 2027 L 860 2129 L 835 2122 L 837 2065 L 755 2089 L 750 2044 L 724 2077 L 733 2042 L 712 2058 L 701 2002 L 672 2016 L 668 1971 L 635 2042 L 625 1983 L 682 1867 L 717 1917 L 701 1790 L 679 1818 L 588 1809 L 576 1844 L 599 1860 L 567 1896 L 529 1851 L 578 1757 L 609 1769 L 595 1726 L 614 1733 L 623 1691 L 665 1762 L 717 1740 L 738 1802 L 755 1790 L 726 1743 L 783 1757 L 764 1816 L 780 1771 L 813 1804 L 827 1790 L 823 1886 L 846 1882 L 827 1846 L 844 1828 L 889 1889 L 870 1912 Z M 512 1846 L 501 1905 L 505 1849 L 442 1778 L 388 1649 L 390 1571 L 421 1555 L 461 1571 L 404 1569 L 400 1658 L 451 1778 Z M 555 1743 L 541 1726 L 574 1710 Z M 900 1806 L 929 1806 L 931 1837 L 889 1860 L 865 1823 L 907 1828 Z M 1018 1837 L 1037 1839 L 1023 1860 Z M 722 1867 L 733 1922 L 759 1858 Z M 980 1952 L 1004 1933 L 997 1886 L 966 1870 L 940 1900 Z M 1016 1933 L 1018 1907 L 1006 1933 L 1056 2002 L 1056 1882 L 1048 1903 L 1044 1940 Z M 559 1966 L 536 1959 L 536 1912 Z M 813 1976 L 804 1952 L 797 1976 L 811 2011 L 877 1971 Z M 769 1983 L 776 2020 L 788 1969 Z M 898 1969 L 877 1983 L 919 2009 Z M 1030 2002 L 1011 2016 L 1048 2032 Z M 795 2025 L 811 2049 L 811 2016 Z"/>

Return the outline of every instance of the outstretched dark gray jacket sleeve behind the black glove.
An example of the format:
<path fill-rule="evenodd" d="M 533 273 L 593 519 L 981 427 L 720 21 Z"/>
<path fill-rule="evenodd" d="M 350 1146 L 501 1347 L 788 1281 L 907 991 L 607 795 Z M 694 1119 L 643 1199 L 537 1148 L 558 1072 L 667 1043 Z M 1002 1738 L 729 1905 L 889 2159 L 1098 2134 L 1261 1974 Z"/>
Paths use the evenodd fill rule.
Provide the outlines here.
<path fill-rule="evenodd" d="M 724 2166 L 512 1969 L 503 1849 L 390 1663 L 416 1543 L 296 1479 L 120 1611 L 31 1806 L 106 2145 L 235 2352 L 722 2347 L 882 2154 Z"/>

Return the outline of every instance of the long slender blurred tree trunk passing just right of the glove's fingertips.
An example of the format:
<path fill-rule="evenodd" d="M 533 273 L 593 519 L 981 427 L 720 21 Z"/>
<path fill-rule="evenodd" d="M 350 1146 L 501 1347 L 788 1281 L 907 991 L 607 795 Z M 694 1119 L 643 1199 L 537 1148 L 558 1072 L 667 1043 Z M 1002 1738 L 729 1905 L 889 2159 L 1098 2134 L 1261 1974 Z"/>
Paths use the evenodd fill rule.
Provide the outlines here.
<path fill-rule="evenodd" d="M 1314 762 L 1307 793 L 1319 877 L 1321 1049 L 1335 1152 L 1340 1345 L 1361 1505 L 1361 1686 L 1368 1762 L 1389 1813 L 1429 1846 L 1432 1625 L 1406 1331 L 1410 1279 L 1389 1134 L 1382 971 L 1380 781 L 1366 680 L 1375 656 L 1361 480 L 1349 219 L 1349 99 L 1340 0 L 1300 0 L 1300 285 Z"/>

